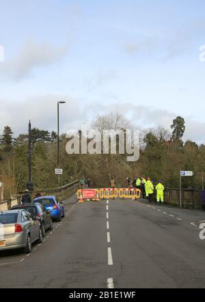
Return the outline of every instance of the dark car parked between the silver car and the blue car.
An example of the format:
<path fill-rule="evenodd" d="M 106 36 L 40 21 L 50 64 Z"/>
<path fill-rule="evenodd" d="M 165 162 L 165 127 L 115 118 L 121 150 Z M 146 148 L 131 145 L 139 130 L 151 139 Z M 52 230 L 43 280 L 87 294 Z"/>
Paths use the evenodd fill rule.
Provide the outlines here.
<path fill-rule="evenodd" d="M 18 206 L 12 206 L 10 210 L 16 210 L 24 208 L 27 210 L 33 219 L 37 219 L 40 222 L 40 228 L 42 230 L 42 236 L 46 234 L 46 230 L 53 230 L 53 221 L 51 213 L 46 210 L 42 204 L 36 202 L 35 204 L 19 204 Z"/>

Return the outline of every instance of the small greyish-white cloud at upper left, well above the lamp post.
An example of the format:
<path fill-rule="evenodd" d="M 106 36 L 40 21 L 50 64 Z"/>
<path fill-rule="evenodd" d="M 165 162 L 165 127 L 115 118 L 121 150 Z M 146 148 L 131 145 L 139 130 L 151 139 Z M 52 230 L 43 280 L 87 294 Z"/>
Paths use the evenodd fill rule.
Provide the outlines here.
<path fill-rule="evenodd" d="M 35 68 L 55 64 L 68 52 L 67 46 L 54 46 L 46 42 L 29 40 L 18 53 L 0 66 L 0 78 L 20 81 L 32 74 Z"/>

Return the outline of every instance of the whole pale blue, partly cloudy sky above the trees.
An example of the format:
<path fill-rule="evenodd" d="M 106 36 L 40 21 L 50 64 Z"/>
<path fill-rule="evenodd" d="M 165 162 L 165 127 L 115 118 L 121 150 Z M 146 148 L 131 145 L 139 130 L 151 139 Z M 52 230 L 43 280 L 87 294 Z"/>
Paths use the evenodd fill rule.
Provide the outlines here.
<path fill-rule="evenodd" d="M 122 113 L 205 143 L 204 0 L 0 0 L 0 133 Z"/>

